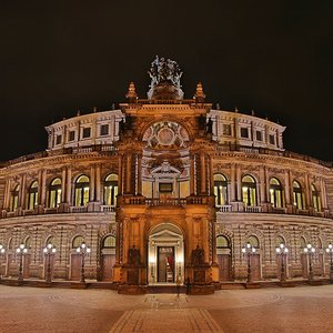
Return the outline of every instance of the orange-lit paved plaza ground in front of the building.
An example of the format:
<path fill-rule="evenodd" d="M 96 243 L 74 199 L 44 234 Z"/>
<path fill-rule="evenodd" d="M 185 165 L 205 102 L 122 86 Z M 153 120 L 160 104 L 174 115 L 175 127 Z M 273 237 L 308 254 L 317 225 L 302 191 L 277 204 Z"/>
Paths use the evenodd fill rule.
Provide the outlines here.
<path fill-rule="evenodd" d="M 333 285 L 214 295 L 0 285 L 0 332 L 332 332 Z"/>

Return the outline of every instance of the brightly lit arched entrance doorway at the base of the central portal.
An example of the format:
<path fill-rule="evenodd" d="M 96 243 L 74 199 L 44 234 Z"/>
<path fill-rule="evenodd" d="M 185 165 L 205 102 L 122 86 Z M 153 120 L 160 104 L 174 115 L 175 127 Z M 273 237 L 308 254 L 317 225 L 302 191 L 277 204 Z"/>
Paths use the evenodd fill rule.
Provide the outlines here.
<path fill-rule="evenodd" d="M 148 282 L 169 284 L 184 276 L 184 240 L 182 231 L 172 223 L 153 228 L 148 240 Z"/>

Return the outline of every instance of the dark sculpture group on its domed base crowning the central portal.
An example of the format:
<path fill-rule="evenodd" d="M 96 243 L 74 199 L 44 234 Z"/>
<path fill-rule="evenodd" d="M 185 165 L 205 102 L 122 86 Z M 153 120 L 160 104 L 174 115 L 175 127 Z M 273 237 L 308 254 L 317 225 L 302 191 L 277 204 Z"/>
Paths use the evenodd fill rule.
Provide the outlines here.
<path fill-rule="evenodd" d="M 180 100 L 183 98 L 184 93 L 180 84 L 183 73 L 174 60 L 157 56 L 148 73 L 151 78 L 149 99 Z"/>

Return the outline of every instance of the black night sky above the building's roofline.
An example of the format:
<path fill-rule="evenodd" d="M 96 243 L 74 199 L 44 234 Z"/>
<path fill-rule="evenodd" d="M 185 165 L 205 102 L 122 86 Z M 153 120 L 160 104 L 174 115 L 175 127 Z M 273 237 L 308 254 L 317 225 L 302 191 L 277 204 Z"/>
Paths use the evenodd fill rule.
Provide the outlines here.
<path fill-rule="evenodd" d="M 333 160 L 333 1 L 0 1 L 1 155 L 46 149 L 44 125 L 108 110 L 159 54 L 221 109 L 287 127 L 285 148 Z"/>

